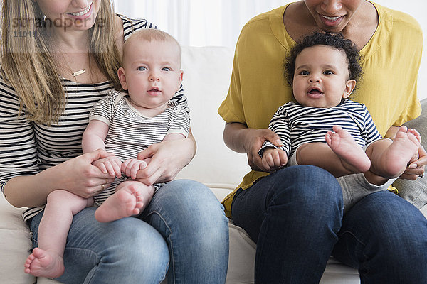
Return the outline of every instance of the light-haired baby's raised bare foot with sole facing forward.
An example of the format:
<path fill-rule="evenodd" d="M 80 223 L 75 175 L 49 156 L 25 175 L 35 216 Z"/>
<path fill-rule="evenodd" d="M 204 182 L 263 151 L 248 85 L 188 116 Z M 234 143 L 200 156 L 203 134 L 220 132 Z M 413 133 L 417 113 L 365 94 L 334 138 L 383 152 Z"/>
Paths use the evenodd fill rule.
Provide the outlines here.
<path fill-rule="evenodd" d="M 147 207 L 153 194 L 152 185 L 144 185 L 136 180 L 122 182 L 117 186 L 115 194 L 95 211 L 95 218 L 99 222 L 110 222 L 137 215 Z"/>

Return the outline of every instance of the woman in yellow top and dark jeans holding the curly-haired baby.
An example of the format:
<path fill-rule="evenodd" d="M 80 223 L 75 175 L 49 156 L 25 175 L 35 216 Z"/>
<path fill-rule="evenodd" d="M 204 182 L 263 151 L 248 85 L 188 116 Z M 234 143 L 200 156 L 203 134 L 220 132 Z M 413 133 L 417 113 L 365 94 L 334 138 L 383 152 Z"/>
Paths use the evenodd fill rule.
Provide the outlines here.
<path fill-rule="evenodd" d="M 223 201 L 226 214 L 257 242 L 255 283 L 318 283 L 331 253 L 358 268 L 364 283 L 424 283 L 427 221 L 411 204 L 376 192 L 342 217 L 342 192 L 329 173 L 298 165 L 270 174 L 260 163 L 262 143 L 278 140 L 267 129 L 271 117 L 292 101 L 285 55 L 319 30 L 343 33 L 359 48 L 364 78 L 354 100 L 367 106 L 382 136 L 392 138 L 395 126 L 421 113 L 423 35 L 411 16 L 366 0 L 298 1 L 256 16 L 241 31 L 218 110 L 224 141 L 246 153 L 253 169 Z M 423 175 L 427 154 L 418 153 L 401 178 Z"/>

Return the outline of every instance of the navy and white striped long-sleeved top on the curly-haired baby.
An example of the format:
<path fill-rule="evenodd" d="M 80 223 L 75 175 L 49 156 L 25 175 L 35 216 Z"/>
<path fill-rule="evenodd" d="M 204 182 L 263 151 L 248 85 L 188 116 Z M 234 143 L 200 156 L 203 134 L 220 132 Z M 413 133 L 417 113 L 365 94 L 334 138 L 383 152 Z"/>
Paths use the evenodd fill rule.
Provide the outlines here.
<path fill-rule="evenodd" d="M 303 143 L 326 143 L 325 135 L 332 131 L 334 125 L 347 130 L 359 146 L 366 146 L 381 138 L 367 107 L 349 99 L 330 108 L 302 107 L 295 102 L 288 102 L 275 112 L 268 129 L 280 136 L 283 143 L 280 148 L 289 157 Z M 267 147 L 277 148 L 270 141 L 265 141 L 260 155 Z"/>

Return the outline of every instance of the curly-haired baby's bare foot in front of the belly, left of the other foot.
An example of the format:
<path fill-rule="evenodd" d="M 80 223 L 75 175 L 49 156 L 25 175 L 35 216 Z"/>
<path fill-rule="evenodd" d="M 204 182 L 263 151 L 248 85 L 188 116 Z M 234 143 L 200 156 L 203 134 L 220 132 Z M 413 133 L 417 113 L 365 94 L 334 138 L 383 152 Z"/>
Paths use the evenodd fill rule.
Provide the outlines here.
<path fill-rule="evenodd" d="M 341 126 L 335 125 L 334 132 L 329 131 L 325 140 L 328 146 L 337 154 L 344 168 L 351 173 L 364 173 L 371 167 L 363 149 L 354 141 L 353 137 Z"/>

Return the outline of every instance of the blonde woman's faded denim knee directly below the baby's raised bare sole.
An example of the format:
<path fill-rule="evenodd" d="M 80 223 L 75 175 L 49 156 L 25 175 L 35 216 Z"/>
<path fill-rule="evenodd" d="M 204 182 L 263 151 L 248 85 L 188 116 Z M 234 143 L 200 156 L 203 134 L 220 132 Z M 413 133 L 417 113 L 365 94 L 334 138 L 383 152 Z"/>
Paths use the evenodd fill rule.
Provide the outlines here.
<path fill-rule="evenodd" d="M 166 241 L 133 217 L 100 223 L 95 208 L 75 215 L 64 253 L 63 283 L 159 283 L 169 263 Z M 90 282 L 92 281 L 92 282 Z"/>

